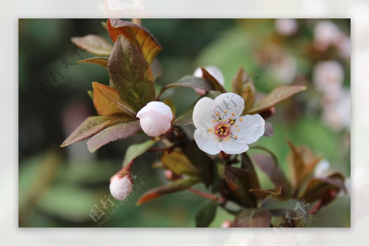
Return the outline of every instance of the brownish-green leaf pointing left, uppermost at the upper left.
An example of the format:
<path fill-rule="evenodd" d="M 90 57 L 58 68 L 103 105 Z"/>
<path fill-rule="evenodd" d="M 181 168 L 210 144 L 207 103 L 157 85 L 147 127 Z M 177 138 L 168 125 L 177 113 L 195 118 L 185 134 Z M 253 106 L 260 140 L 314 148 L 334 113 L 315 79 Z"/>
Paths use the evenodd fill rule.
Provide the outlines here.
<path fill-rule="evenodd" d="M 79 48 L 86 49 L 88 52 L 99 56 L 108 56 L 110 55 L 111 49 L 113 49 L 111 43 L 93 34 L 83 37 L 73 37 L 70 40 Z"/>

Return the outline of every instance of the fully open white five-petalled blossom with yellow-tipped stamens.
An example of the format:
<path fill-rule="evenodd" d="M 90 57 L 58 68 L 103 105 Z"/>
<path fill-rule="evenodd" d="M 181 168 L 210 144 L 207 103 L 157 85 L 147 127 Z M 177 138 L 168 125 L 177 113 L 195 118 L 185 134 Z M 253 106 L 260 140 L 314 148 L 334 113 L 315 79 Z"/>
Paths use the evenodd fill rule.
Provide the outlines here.
<path fill-rule="evenodd" d="M 243 109 L 244 99 L 234 93 L 224 93 L 215 100 L 201 98 L 192 115 L 197 146 L 211 155 L 221 150 L 227 154 L 248 150 L 248 144 L 264 134 L 265 121 L 260 115 L 240 116 Z"/>

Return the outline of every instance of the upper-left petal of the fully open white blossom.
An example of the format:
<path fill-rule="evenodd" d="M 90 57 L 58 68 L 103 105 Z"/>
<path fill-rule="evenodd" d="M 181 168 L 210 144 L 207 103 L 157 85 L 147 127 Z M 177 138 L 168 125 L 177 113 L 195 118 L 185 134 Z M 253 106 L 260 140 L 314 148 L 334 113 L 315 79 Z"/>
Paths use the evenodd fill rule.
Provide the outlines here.
<path fill-rule="evenodd" d="M 203 97 L 195 105 L 192 114 L 193 124 L 197 129 L 206 128 L 207 130 L 214 127 L 213 113 L 216 107 L 214 100 Z"/>

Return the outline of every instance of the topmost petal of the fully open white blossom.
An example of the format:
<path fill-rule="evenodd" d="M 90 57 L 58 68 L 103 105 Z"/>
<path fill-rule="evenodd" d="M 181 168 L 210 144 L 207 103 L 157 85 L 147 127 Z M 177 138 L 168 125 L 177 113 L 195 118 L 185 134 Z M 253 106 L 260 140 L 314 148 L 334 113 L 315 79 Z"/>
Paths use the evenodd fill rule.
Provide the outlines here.
<path fill-rule="evenodd" d="M 225 115 L 227 117 L 231 117 L 232 113 L 235 114 L 233 118 L 238 117 L 245 108 L 244 99 L 240 95 L 231 92 L 217 96 L 214 101 L 219 105 L 223 112 L 227 112 L 227 115 Z"/>

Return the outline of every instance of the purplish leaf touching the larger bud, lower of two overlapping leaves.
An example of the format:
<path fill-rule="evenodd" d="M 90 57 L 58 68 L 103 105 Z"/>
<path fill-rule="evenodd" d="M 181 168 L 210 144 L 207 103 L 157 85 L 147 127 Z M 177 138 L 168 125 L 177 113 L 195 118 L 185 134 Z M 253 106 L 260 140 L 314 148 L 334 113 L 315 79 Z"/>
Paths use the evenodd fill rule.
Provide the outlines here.
<path fill-rule="evenodd" d="M 90 140 L 87 141 L 87 148 L 93 153 L 105 144 L 127 137 L 132 137 L 139 131 L 141 131 L 139 120 L 134 122 L 118 123 L 114 126 L 104 129 L 103 131 L 100 131 L 100 133 L 90 138 Z"/>

